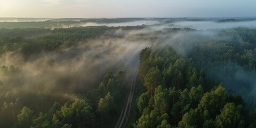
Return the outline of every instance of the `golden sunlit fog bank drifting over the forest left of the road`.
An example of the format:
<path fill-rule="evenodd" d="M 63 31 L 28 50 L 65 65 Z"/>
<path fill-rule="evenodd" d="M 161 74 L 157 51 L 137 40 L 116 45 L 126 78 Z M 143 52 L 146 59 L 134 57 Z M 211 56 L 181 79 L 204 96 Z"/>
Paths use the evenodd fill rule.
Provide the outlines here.
<path fill-rule="evenodd" d="M 19 87 L 35 93 L 86 93 L 97 88 L 108 71 L 116 74 L 124 70 L 129 76 L 130 70 L 137 68 L 134 65 L 139 62 L 139 52 L 151 42 L 129 33 L 131 31 L 118 30 L 115 34 L 126 36 L 102 36 L 69 48 L 30 55 L 28 60 L 20 50 L 5 53 L 1 64 L 19 67 L 20 71 L 10 75 L 2 73 L 1 80 L 10 90 Z"/>

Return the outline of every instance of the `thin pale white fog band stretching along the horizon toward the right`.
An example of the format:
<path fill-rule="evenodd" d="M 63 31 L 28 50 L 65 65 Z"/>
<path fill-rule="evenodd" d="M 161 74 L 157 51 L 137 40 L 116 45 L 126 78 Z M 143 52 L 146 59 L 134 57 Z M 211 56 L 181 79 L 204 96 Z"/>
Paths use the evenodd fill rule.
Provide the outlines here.
<path fill-rule="evenodd" d="M 172 21 L 166 23 L 163 20 L 148 19 L 133 22 L 121 22 L 121 23 L 95 23 L 87 22 L 78 26 L 141 26 L 148 25 L 155 30 L 161 30 L 164 28 L 192 28 L 196 30 L 207 29 L 226 29 L 236 27 L 256 28 L 256 20 L 251 21 L 236 21 L 236 22 L 217 22 L 217 20 L 203 20 L 203 21 Z"/>

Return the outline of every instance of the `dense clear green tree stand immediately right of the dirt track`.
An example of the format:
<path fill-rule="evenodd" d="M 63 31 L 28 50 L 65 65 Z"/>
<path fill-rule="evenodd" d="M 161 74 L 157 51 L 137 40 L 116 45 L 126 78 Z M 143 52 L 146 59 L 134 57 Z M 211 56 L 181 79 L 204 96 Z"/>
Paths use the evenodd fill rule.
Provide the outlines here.
<path fill-rule="evenodd" d="M 143 113 L 133 124 L 134 127 L 245 126 L 245 114 L 241 113 L 244 111 L 241 97 L 229 95 L 222 83 L 214 86 L 214 82 L 206 78 L 202 69 L 197 71 L 193 59 L 187 60 L 167 51 L 172 50 L 165 47 L 161 52 L 156 50 L 153 53 L 150 49 L 141 52 L 140 78 L 144 80 L 147 93 L 150 94 L 152 88 L 155 92 L 149 100 L 147 93 L 143 93 L 139 98 L 137 105 L 140 111 L 143 109 Z M 155 58 L 159 61 L 154 61 Z M 164 86 L 159 85 L 161 83 Z M 237 107 L 225 106 L 228 102 Z M 230 112 L 236 114 L 229 113 L 226 109 L 231 109 Z M 159 119 L 162 114 L 168 118 Z M 233 125 L 225 123 L 228 121 Z"/>

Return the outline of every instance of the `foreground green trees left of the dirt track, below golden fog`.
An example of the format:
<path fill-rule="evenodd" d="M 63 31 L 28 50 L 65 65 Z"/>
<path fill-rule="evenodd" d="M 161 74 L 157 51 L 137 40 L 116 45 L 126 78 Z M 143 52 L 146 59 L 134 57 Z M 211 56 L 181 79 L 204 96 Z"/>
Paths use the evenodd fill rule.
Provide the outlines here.
<path fill-rule="evenodd" d="M 1 75 L 2 78 L 15 76 L 19 71 L 18 67 L 12 65 L 2 66 Z M 118 103 L 124 99 L 120 91 L 124 89 L 125 73 L 122 70 L 118 71 L 118 75 L 109 72 L 104 78 L 107 84 L 100 82 L 98 89 L 87 94 L 57 96 L 44 91 L 29 93 L 23 90 L 0 94 L 0 102 L 3 101 L 0 127 L 101 127 L 102 124 L 97 123 L 102 122 L 101 118 L 106 127 L 111 127 L 114 122 L 109 122 L 118 117 L 118 111 L 122 108 Z M 22 99 L 15 99 L 17 95 Z M 24 107 L 27 105 L 31 109 Z"/>

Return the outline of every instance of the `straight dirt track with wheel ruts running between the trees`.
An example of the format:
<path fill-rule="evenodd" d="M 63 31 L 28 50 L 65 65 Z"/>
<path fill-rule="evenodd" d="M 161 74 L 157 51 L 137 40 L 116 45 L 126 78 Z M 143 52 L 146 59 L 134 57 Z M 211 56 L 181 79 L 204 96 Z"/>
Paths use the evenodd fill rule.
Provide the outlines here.
<path fill-rule="evenodd" d="M 136 78 L 137 78 L 137 74 L 138 74 L 138 67 L 139 67 L 139 63 L 137 64 L 136 68 L 134 69 L 134 73 L 132 75 L 132 81 L 131 81 L 131 85 L 130 85 L 130 92 L 129 92 L 128 97 L 126 98 L 125 106 L 123 107 L 123 110 L 121 112 L 121 115 L 118 119 L 118 122 L 117 122 L 115 128 L 125 127 L 125 125 L 128 122 L 130 111 L 131 111 L 131 106 L 132 106 L 132 99 L 133 99 L 133 93 L 134 93 L 134 88 L 135 88 L 135 84 L 136 84 Z"/>

